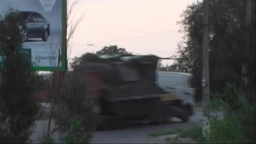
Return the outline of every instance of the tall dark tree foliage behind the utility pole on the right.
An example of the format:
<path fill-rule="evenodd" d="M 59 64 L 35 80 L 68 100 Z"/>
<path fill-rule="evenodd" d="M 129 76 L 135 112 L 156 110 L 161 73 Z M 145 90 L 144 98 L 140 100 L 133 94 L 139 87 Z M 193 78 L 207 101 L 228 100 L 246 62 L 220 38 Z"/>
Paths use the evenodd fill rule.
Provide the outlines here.
<path fill-rule="evenodd" d="M 247 26 L 247 1 L 209 0 L 209 70 L 211 92 L 223 93 L 227 82 L 241 85 L 241 65 L 246 63 L 247 89 L 255 89 L 255 1 L 252 19 Z M 185 36 L 178 45 L 181 59 L 176 65 L 181 72 L 190 72 L 197 79 L 196 101 L 202 98 L 202 2 L 188 6 L 177 24 Z"/>

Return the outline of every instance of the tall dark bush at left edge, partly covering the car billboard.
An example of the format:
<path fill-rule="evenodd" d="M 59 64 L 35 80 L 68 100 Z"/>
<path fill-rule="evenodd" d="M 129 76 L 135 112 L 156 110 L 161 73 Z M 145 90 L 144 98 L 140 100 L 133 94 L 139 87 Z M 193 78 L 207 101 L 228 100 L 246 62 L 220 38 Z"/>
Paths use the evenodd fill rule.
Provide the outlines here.
<path fill-rule="evenodd" d="M 1 53 L 6 56 L 0 86 L 1 143 L 25 143 L 39 111 L 34 97 L 35 72 L 30 58 L 21 53 L 22 41 L 17 27 L 20 18 L 19 13 L 10 10 L 0 21 Z"/>

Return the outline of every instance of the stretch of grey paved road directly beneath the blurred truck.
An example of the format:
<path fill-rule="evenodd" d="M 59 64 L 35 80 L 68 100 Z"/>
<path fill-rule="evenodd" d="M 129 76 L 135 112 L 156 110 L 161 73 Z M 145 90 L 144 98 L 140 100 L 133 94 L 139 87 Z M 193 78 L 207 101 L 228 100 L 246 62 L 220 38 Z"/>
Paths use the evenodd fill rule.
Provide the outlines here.
<path fill-rule="evenodd" d="M 122 130 L 98 131 L 94 133 L 92 143 L 159 143 L 147 138 L 147 135 L 150 132 L 161 132 L 177 128 L 189 128 L 193 125 L 202 125 L 202 122 L 200 121 L 202 117 L 202 111 L 199 109 L 195 111 L 195 115 L 191 118 L 189 123 L 182 123 L 179 119 L 174 119 L 173 122 L 168 125 L 141 124 L 134 126 L 133 128 L 126 128 Z"/>

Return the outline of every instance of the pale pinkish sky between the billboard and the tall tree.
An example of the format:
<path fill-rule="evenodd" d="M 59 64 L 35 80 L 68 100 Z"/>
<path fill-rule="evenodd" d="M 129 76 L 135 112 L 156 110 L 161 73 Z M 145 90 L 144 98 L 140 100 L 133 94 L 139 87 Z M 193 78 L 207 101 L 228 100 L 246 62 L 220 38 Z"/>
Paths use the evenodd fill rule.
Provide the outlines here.
<path fill-rule="evenodd" d="M 176 23 L 192 2 L 195 0 L 79 0 L 74 19 L 82 14 L 85 19 L 73 36 L 69 58 L 109 45 L 134 54 L 169 57 L 175 54 L 182 38 Z"/>

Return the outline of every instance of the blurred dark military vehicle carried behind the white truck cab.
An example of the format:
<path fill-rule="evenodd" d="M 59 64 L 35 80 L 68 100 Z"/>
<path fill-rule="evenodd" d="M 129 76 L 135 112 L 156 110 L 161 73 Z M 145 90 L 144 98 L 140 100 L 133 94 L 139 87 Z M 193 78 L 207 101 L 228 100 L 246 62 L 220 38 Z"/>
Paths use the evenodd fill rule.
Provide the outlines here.
<path fill-rule="evenodd" d="M 98 126 L 139 119 L 168 123 L 171 117 L 188 121 L 191 107 L 157 86 L 158 61 L 153 55 L 90 55 L 83 60 L 77 69 L 83 72 L 86 98 L 94 105 Z"/>

